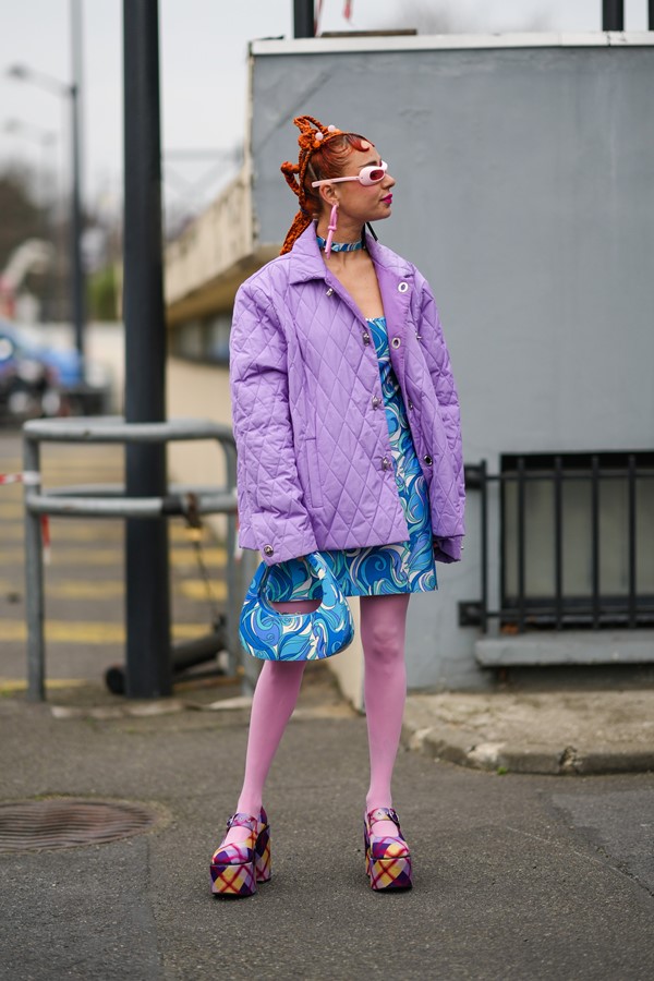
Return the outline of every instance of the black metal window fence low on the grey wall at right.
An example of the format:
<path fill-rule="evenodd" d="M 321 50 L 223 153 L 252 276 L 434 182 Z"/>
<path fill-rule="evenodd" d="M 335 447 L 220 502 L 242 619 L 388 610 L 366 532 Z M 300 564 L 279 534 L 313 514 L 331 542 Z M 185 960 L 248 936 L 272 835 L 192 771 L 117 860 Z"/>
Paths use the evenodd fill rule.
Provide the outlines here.
<path fill-rule="evenodd" d="M 465 468 L 465 485 L 479 491 L 481 524 L 481 601 L 459 605 L 461 626 L 480 626 L 484 632 L 492 619 L 506 630 L 522 633 L 528 629 L 629 628 L 654 623 L 654 453 L 523 455 L 504 457 L 499 473 L 488 473 L 486 461 Z M 610 482 L 622 482 L 620 508 L 616 493 L 607 494 Z M 547 495 L 546 520 L 543 509 L 534 513 L 534 482 L 541 497 Z M 570 513 L 570 494 L 574 483 L 584 482 L 583 524 L 580 509 Z M 494 493 L 494 485 L 498 493 Z M 607 500 L 610 498 L 610 500 Z M 474 495 L 470 495 L 471 502 Z M 578 500 L 579 505 L 579 500 Z M 493 509 L 496 509 L 493 511 Z M 619 511 L 619 513 L 618 513 Z M 491 529 L 499 535 L 499 555 L 492 553 Z M 603 556 L 603 530 L 610 525 L 611 541 L 620 547 L 619 588 L 610 572 L 613 556 Z M 530 553 L 530 540 L 541 545 L 538 555 Z M 578 549 L 582 549 L 580 555 Z M 639 549 L 641 561 L 639 562 Z M 583 588 L 579 576 L 584 570 Z M 499 605 L 492 608 L 489 583 L 492 566 L 499 568 Z M 538 574 L 531 576 L 534 562 Z M 543 568 L 546 571 L 543 574 Z M 640 567 L 640 571 L 639 571 Z M 538 580 L 534 589 L 530 578 Z M 543 581 L 547 580 L 545 589 Z M 610 580 L 606 588 L 603 580 Z M 604 588 L 603 588 L 604 586 Z"/>

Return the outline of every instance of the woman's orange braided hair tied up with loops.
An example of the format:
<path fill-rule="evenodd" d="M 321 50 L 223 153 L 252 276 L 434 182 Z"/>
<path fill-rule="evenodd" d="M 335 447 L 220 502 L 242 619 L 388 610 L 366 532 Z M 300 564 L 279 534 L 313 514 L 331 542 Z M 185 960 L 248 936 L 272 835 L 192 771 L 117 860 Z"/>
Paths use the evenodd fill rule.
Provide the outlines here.
<path fill-rule="evenodd" d="M 319 209 L 319 197 L 313 193 L 313 189 L 310 186 L 311 181 L 320 180 L 323 177 L 338 175 L 338 171 L 337 173 L 328 173 L 329 170 L 335 169 L 336 161 L 324 159 L 322 150 L 326 145 L 338 137 L 338 145 L 341 152 L 339 154 L 340 157 L 349 155 L 351 148 L 367 149 L 370 145 L 359 145 L 363 141 L 362 136 L 355 133 L 342 133 L 336 126 L 325 126 L 313 116 L 296 116 L 293 123 L 300 130 L 300 135 L 298 136 L 298 145 L 300 146 L 299 160 L 296 164 L 286 160 L 280 169 L 287 184 L 293 194 L 298 196 L 300 210 L 287 232 L 280 255 L 291 251 L 295 240 L 308 228 L 313 217 L 315 217 L 312 215 L 312 211 Z M 337 144 L 335 144 L 334 149 L 337 149 Z M 329 156 L 331 157 L 332 155 L 329 154 Z M 317 159 L 312 160 L 314 157 L 317 157 Z M 306 180 L 307 168 L 311 170 L 308 181 Z"/>

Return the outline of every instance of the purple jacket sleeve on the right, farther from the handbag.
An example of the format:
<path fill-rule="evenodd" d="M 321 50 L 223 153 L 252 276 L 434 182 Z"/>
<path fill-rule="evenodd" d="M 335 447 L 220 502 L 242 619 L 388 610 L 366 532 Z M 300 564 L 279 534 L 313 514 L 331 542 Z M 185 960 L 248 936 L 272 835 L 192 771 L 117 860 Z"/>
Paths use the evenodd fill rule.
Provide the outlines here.
<path fill-rule="evenodd" d="M 451 537 L 437 537 L 434 542 L 435 557 L 440 562 L 458 562 L 461 559 L 462 538 L 464 533 L 463 513 L 465 505 L 465 483 L 463 473 L 463 449 L 461 444 L 461 413 L 459 396 L 449 351 L 443 336 L 440 317 L 434 294 L 426 279 L 419 274 L 421 281 L 420 332 L 423 338 L 423 350 L 436 392 L 440 415 L 448 446 L 451 452 L 452 469 L 457 483 L 461 534 Z"/>

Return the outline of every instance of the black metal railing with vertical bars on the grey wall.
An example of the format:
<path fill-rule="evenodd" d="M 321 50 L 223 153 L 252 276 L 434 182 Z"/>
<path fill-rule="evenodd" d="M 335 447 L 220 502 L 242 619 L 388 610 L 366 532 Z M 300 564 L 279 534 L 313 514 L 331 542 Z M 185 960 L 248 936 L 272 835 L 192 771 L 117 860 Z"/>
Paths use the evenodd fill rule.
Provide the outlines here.
<path fill-rule="evenodd" d="M 635 453 L 623 455 L 626 464 L 601 465 L 601 455 L 583 455 L 589 458 L 589 467 L 566 465 L 562 455 L 553 456 L 552 465 L 538 463 L 537 469 L 529 465 L 526 456 L 511 457 L 512 465 L 500 473 L 488 473 L 485 460 L 465 467 L 465 485 L 469 491 L 479 491 L 480 535 L 481 535 L 481 600 L 459 604 L 461 626 L 479 626 L 488 631 L 489 621 L 497 620 L 502 628 L 522 633 L 531 627 L 565 628 L 601 627 L 628 628 L 646 627 L 654 623 L 654 594 L 639 589 L 638 582 L 638 537 L 637 537 L 637 483 L 654 480 L 654 467 L 639 465 Z M 549 485 L 552 493 L 552 553 L 548 556 L 553 574 L 550 588 L 545 595 L 528 589 L 528 534 L 533 516 L 528 514 L 528 486 L 531 482 Z M 565 586 L 565 535 L 570 531 L 566 524 L 564 494 L 571 482 L 584 481 L 590 484 L 589 502 L 589 554 L 588 567 L 590 589 L 580 594 L 579 590 Z M 601 583 L 601 496 L 605 482 L 622 481 L 626 485 L 625 542 L 627 555 L 626 589 L 606 591 Z M 497 511 L 493 507 L 491 488 L 496 485 Z M 507 488 L 513 486 L 512 500 L 508 501 Z M 654 488 L 653 488 L 654 489 Z M 507 524 L 511 522 L 513 532 L 509 543 Z M 499 534 L 499 605 L 491 605 L 492 564 L 495 555 L 491 547 L 492 525 Z M 532 529 L 533 531 L 533 529 Z M 542 532 L 542 529 L 541 529 Z M 650 548 L 651 543 L 645 547 Z M 511 554 L 509 555 L 509 548 Z M 512 588 L 507 588 L 507 570 L 511 566 Z"/>

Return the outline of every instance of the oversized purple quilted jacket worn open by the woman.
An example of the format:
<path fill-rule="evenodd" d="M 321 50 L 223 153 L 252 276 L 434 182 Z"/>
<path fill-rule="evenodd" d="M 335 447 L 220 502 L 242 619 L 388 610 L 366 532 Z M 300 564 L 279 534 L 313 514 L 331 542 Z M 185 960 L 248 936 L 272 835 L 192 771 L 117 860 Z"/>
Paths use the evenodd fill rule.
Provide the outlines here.
<path fill-rule="evenodd" d="M 461 557 L 459 403 L 434 296 L 368 237 L 390 359 L 429 488 L 436 558 Z M 311 225 L 239 289 L 230 341 L 240 544 L 271 565 L 404 542 L 375 346 Z"/>

